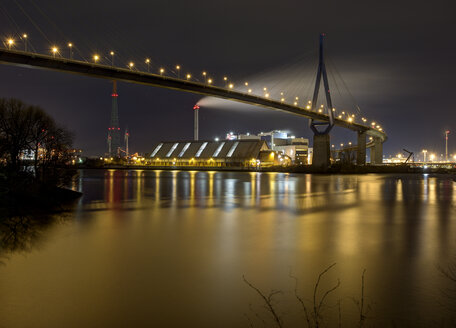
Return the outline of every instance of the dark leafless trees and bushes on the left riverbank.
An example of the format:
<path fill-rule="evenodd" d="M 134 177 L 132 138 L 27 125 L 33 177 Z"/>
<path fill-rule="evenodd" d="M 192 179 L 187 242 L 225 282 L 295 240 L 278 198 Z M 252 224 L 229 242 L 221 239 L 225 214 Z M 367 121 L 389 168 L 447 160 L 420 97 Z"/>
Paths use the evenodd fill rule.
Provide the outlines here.
<path fill-rule="evenodd" d="M 0 99 L 0 219 L 56 213 L 81 195 L 64 188 L 76 173 L 72 143 L 40 107 Z"/>

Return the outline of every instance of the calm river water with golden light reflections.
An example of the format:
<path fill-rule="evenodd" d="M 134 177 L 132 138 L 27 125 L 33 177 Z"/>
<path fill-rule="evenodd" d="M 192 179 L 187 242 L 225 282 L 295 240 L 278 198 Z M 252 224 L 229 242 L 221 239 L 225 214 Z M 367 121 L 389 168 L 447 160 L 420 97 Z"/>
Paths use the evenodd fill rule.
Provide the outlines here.
<path fill-rule="evenodd" d="M 0 327 L 273 326 L 243 276 L 305 326 L 290 274 L 311 312 L 333 263 L 324 325 L 357 325 L 361 301 L 366 326 L 455 322 L 450 176 L 83 170 L 72 188 L 74 210 L 3 244 Z"/>

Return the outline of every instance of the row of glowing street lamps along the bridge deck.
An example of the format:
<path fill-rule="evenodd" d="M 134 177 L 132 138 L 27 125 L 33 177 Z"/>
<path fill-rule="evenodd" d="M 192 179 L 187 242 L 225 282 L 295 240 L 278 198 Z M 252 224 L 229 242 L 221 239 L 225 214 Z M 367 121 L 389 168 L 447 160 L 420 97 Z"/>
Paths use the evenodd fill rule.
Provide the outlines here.
<path fill-rule="evenodd" d="M 24 40 L 24 50 L 27 51 L 27 39 L 28 39 L 28 35 L 27 34 L 23 34 L 22 37 L 21 37 L 23 40 Z M 8 45 L 8 49 L 11 50 L 12 47 L 14 47 L 15 45 L 15 40 L 13 38 L 9 38 L 6 40 L 6 44 Z M 70 56 L 70 59 L 72 59 L 73 57 L 73 43 L 68 43 L 68 48 L 69 48 L 69 56 Z M 56 55 L 59 54 L 59 48 L 57 46 L 53 46 L 51 47 L 51 53 L 53 55 L 53 57 L 55 58 Z M 109 52 L 109 55 L 111 56 L 111 66 L 114 66 L 114 55 L 115 55 L 115 52 L 114 51 L 110 51 Z M 99 54 L 95 54 L 93 55 L 92 57 L 94 63 L 98 63 L 100 60 L 101 60 L 101 56 Z M 150 73 L 150 63 L 151 63 L 151 60 L 149 58 L 146 58 L 145 59 L 145 64 L 147 65 L 147 72 Z M 130 61 L 127 65 L 127 67 L 131 70 L 133 70 L 135 68 L 135 63 Z M 177 71 L 177 78 L 180 79 L 180 70 L 181 70 L 181 66 L 180 65 L 176 65 L 176 71 Z M 165 69 L 163 67 L 160 67 L 158 72 L 160 73 L 160 75 L 163 75 L 165 74 Z M 202 72 L 202 76 L 204 78 L 204 81 L 206 84 L 209 84 L 209 85 L 212 85 L 214 83 L 214 80 L 211 78 L 211 77 L 208 77 L 208 74 L 207 72 L 203 71 Z M 192 75 L 190 73 L 187 73 L 185 75 L 185 78 L 187 81 L 191 80 L 192 78 Z M 228 77 L 224 76 L 223 77 L 223 81 L 225 82 L 225 87 L 228 88 L 228 89 L 234 89 L 234 84 L 233 83 L 230 83 L 228 81 Z M 249 88 L 249 83 L 248 82 L 245 82 L 244 83 L 245 87 L 247 88 L 247 93 L 248 94 L 251 94 L 253 92 L 253 90 L 251 88 Z M 270 98 L 270 93 L 268 91 L 268 88 L 267 87 L 264 87 L 263 88 L 263 91 L 264 91 L 264 97 L 265 98 Z M 284 98 L 284 93 L 281 92 L 280 93 L 280 102 L 284 103 L 285 102 L 285 98 Z M 293 105 L 294 106 L 298 106 L 298 100 L 299 100 L 299 97 L 295 97 L 294 99 L 294 102 L 293 102 Z M 310 110 L 312 108 L 312 103 L 311 101 L 309 100 L 307 105 L 306 105 L 306 109 Z M 319 113 L 323 113 L 323 110 L 324 110 L 324 107 L 323 105 L 321 105 L 319 108 L 318 108 L 318 112 Z M 332 109 L 333 112 L 336 111 L 335 108 Z M 353 123 L 355 121 L 355 114 L 349 114 L 349 113 L 345 113 L 345 111 L 342 111 L 341 114 L 339 114 L 337 116 L 337 118 L 339 119 L 344 119 L 344 117 L 346 117 L 346 121 L 348 121 L 349 123 Z M 362 117 L 361 118 L 362 122 L 363 123 L 366 123 L 367 122 L 367 119 Z M 373 129 L 377 129 L 379 131 L 383 131 L 382 127 L 380 125 L 378 125 L 377 123 L 375 122 L 372 122 L 371 123 L 371 128 Z"/>

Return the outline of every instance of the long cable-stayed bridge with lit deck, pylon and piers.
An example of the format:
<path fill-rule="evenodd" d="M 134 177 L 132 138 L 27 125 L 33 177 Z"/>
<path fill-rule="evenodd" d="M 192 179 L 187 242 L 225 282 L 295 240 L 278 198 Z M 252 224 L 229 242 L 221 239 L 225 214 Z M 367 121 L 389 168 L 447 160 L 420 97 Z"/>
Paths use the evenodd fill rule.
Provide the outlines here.
<path fill-rule="evenodd" d="M 203 72 L 204 81 L 196 80 L 190 74 L 182 78 L 179 74 L 177 76 L 169 76 L 165 74 L 165 70 L 162 68 L 159 70 L 159 74 L 151 73 L 149 71 L 149 59 L 145 60 L 147 71 L 138 70 L 133 62 L 129 62 L 126 67 L 115 66 L 114 60 L 111 63 L 102 63 L 100 55 L 97 54 L 93 55 L 92 61 L 74 59 L 71 52 L 73 46 L 71 43 L 68 44 L 70 48 L 68 57 L 62 56 L 55 46 L 51 47 L 50 54 L 32 52 L 27 49 L 27 37 L 25 34 L 20 37 L 20 39 L 25 40 L 23 50 L 19 50 L 16 47 L 16 41 L 13 38 L 4 40 L 5 47 L 0 48 L 0 63 L 179 90 L 286 112 L 309 119 L 309 126 L 314 133 L 314 158 L 312 163 L 314 166 L 325 168 L 330 165 L 329 135 L 334 126 L 357 133 L 358 142 L 355 148 L 357 152 L 356 163 L 358 165 L 366 164 L 367 148 L 371 148 L 371 164 L 380 164 L 383 161 L 382 145 L 387 140 L 387 135 L 383 128 L 375 122 L 369 124 L 364 117 L 361 118 L 360 122 L 357 122 L 357 117 L 354 114 L 349 115 L 342 112 L 342 114 L 337 115 L 338 113 L 333 107 L 323 54 L 324 34 L 320 36 L 319 64 L 313 98 L 302 104 L 298 104 L 297 101 L 288 103 L 283 97 L 273 99 L 266 91 L 266 88 L 262 95 L 255 94 L 249 88 L 247 82 L 241 86 L 234 83 L 225 83 L 224 86 L 217 86 L 212 79 L 206 77 L 206 72 Z M 114 53 L 111 52 L 110 55 L 113 56 Z M 180 67 L 176 66 L 176 69 L 179 71 Z M 224 80 L 226 82 L 226 78 Z M 325 108 L 317 106 L 321 80 L 323 80 L 325 91 Z"/>

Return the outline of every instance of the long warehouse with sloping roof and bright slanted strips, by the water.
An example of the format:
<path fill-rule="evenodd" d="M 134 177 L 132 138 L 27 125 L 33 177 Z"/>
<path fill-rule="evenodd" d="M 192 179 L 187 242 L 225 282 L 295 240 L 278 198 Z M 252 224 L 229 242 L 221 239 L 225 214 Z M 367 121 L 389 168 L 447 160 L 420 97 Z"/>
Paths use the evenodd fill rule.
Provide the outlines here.
<path fill-rule="evenodd" d="M 281 164 L 279 156 L 263 140 L 160 142 L 146 161 L 152 166 L 176 167 L 251 168 Z"/>

